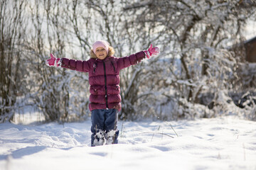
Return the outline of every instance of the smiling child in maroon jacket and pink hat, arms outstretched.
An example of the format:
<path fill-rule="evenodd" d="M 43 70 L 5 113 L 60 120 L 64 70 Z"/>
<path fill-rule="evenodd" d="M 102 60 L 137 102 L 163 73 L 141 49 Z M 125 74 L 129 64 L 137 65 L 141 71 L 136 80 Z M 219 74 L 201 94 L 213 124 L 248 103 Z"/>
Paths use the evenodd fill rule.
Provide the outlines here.
<path fill-rule="evenodd" d="M 113 57 L 113 47 L 104 40 L 97 40 L 92 45 L 91 58 L 87 61 L 56 59 L 50 54 L 50 59 L 46 60 L 46 64 L 50 67 L 63 67 L 89 73 L 92 146 L 117 144 L 119 134 L 117 115 L 121 110 L 119 71 L 141 62 L 145 57 L 158 54 L 159 48 L 150 45 L 148 50 L 129 57 Z"/>

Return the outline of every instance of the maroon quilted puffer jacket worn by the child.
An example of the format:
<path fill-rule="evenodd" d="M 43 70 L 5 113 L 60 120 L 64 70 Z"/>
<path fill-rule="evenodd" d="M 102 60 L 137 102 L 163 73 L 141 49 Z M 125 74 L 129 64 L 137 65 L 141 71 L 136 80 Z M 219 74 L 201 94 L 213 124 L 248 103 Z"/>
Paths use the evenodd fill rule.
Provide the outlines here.
<path fill-rule="evenodd" d="M 105 60 L 87 61 L 62 58 L 61 67 L 78 72 L 89 72 L 90 111 L 95 109 L 116 108 L 121 110 L 119 71 L 137 64 L 145 58 L 144 52 L 137 52 L 129 57 L 106 57 Z"/>

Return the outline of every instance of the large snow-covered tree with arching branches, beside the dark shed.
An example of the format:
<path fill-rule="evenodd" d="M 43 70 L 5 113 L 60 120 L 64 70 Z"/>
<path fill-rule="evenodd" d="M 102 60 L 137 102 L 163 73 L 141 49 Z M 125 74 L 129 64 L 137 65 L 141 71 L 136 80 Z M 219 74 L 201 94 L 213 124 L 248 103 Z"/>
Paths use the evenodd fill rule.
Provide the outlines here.
<path fill-rule="evenodd" d="M 233 88 L 230 79 L 238 68 L 230 46 L 243 40 L 245 23 L 255 16 L 255 6 L 255 1 L 149 0 L 124 7 L 132 16 L 127 17 L 127 31 L 144 35 L 137 41 L 161 45 L 161 58 L 172 61 L 165 70 L 169 74 L 157 74 L 174 92 L 162 105 L 169 107 L 172 100 L 174 114 L 193 117 L 198 113 L 190 103 L 203 103 L 204 93 L 213 94 L 205 102 L 209 108 L 223 104 L 218 100 L 220 91 Z"/>

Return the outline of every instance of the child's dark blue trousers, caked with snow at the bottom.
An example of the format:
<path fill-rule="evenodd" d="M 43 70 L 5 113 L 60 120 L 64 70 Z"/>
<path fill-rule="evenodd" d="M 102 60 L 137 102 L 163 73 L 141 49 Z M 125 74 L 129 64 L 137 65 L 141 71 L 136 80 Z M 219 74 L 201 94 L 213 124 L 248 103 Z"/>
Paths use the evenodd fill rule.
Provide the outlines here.
<path fill-rule="evenodd" d="M 92 147 L 105 144 L 117 144 L 117 109 L 96 109 L 92 111 Z"/>

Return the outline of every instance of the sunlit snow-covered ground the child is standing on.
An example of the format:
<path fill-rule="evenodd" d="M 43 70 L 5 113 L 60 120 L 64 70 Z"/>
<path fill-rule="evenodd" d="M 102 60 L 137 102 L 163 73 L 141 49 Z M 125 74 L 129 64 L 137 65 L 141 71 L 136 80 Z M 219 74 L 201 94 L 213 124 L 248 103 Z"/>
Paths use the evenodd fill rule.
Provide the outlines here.
<path fill-rule="evenodd" d="M 118 145 L 90 147 L 90 120 L 4 123 L 0 169 L 256 169 L 256 122 L 249 120 L 119 121 L 119 130 Z"/>

